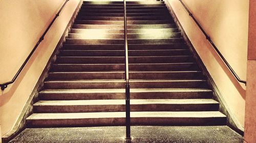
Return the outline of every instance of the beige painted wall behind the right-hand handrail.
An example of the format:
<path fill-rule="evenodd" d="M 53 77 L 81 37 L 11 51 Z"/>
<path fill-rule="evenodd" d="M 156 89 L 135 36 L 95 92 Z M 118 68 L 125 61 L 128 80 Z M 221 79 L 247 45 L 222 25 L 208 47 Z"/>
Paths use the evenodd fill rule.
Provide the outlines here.
<path fill-rule="evenodd" d="M 207 70 L 217 83 L 228 107 L 244 127 L 245 85 L 234 78 L 180 1 L 168 1 Z M 233 70 L 245 80 L 249 1 L 183 0 L 183 3 L 204 28 Z"/>

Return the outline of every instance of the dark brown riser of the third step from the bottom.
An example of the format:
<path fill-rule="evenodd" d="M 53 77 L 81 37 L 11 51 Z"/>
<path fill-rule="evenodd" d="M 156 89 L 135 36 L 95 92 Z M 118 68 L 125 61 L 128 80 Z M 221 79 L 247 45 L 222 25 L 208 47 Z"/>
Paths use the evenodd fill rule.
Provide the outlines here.
<path fill-rule="evenodd" d="M 157 95 L 157 96 L 156 96 Z M 125 99 L 125 93 L 39 93 L 40 100 Z M 209 99 L 212 92 L 146 92 L 130 94 L 131 99 Z"/>

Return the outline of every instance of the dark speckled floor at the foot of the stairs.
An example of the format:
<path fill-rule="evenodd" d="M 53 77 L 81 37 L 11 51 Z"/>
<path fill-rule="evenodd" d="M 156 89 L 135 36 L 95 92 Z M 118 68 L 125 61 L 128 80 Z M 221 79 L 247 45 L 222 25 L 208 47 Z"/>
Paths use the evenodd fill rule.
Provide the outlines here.
<path fill-rule="evenodd" d="M 124 134 L 125 127 L 32 128 L 10 142 L 243 142 L 227 126 L 132 126 L 131 141 Z"/>

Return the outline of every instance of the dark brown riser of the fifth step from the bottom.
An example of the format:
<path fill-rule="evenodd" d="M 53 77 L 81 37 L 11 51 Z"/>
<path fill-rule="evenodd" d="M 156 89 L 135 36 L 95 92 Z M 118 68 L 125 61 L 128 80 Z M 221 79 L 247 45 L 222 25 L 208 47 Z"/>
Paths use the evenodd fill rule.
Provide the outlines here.
<path fill-rule="evenodd" d="M 201 72 L 129 73 L 130 79 L 200 79 Z M 113 73 L 49 73 L 48 79 L 124 79 L 123 72 Z"/>

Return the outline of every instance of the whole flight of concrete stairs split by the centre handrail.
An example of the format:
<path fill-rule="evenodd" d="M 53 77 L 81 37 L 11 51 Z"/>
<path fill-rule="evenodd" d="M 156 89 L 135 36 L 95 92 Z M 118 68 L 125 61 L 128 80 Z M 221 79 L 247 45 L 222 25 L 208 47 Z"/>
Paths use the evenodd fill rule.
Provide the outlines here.
<path fill-rule="evenodd" d="M 226 125 L 164 2 L 127 2 L 132 125 Z M 28 127 L 125 125 L 122 2 L 83 2 Z"/>

